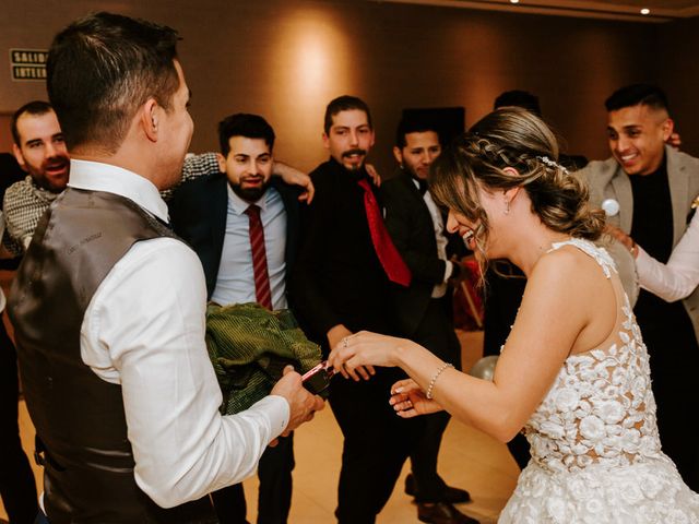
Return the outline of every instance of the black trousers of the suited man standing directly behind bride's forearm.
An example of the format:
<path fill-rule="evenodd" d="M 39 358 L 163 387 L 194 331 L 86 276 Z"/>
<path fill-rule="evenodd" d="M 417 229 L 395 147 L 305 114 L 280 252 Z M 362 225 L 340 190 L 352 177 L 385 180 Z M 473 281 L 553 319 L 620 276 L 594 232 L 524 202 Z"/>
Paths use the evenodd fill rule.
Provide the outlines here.
<path fill-rule="evenodd" d="M 461 369 L 461 345 L 451 320 L 450 299 L 451 294 L 431 299 L 411 338 L 446 362 L 453 364 L 454 368 Z M 417 502 L 440 502 L 445 499 L 447 484 L 437 474 L 437 461 L 441 439 L 450 418 L 447 412 L 423 417 L 423 431 L 411 452 Z"/>

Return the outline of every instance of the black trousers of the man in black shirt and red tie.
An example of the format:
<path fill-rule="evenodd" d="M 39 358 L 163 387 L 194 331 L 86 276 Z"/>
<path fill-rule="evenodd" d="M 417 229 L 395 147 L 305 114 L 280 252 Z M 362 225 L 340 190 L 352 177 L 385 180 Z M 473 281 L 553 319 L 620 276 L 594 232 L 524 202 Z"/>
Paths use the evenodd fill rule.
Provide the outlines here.
<path fill-rule="evenodd" d="M 376 368 L 355 382 L 335 376 L 330 407 L 344 443 L 335 516 L 340 524 L 372 524 L 422 431 L 422 417 L 402 419 L 389 405 L 391 385 L 405 378 L 399 369 Z"/>

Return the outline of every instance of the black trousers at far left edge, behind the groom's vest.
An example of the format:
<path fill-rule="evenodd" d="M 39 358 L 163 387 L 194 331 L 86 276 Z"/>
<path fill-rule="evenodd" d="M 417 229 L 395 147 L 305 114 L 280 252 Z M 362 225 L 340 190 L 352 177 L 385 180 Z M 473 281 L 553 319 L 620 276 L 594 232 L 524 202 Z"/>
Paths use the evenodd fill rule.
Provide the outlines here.
<path fill-rule="evenodd" d="M 17 358 L 0 314 L 0 496 L 12 524 L 32 524 L 36 485 L 17 424 Z"/>

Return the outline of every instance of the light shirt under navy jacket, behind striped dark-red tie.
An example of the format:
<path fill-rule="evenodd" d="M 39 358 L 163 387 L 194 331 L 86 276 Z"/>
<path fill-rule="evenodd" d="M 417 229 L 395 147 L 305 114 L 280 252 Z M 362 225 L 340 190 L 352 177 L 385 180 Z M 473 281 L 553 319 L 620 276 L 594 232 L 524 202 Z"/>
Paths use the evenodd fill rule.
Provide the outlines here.
<path fill-rule="evenodd" d="M 211 299 L 221 305 L 257 302 L 252 248 L 250 246 L 250 217 L 245 214 L 249 202 L 228 188 L 226 235 L 223 240 L 216 287 Z M 264 229 L 264 251 L 272 291 L 272 307 L 285 309 L 286 303 L 286 210 L 282 195 L 268 188 L 254 203 L 260 207 Z"/>

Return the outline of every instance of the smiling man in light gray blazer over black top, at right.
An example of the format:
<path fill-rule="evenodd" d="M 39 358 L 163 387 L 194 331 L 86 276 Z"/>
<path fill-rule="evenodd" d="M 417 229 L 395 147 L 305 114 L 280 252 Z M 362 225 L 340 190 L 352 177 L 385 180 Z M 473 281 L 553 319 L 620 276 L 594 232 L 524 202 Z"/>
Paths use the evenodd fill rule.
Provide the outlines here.
<path fill-rule="evenodd" d="M 656 86 L 623 87 L 605 105 L 613 157 L 590 163 L 580 175 L 588 180 L 592 204 L 605 209 L 609 225 L 632 239 L 631 255 L 639 245 L 667 262 L 694 213 L 699 159 L 665 144 L 673 120 Z M 633 312 L 651 357 L 663 451 L 697 491 L 699 445 L 688 421 L 699 408 L 694 385 L 699 371 L 699 293 L 668 303 L 641 289 Z"/>

